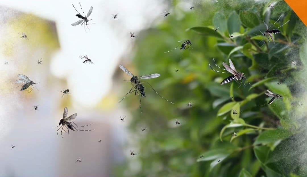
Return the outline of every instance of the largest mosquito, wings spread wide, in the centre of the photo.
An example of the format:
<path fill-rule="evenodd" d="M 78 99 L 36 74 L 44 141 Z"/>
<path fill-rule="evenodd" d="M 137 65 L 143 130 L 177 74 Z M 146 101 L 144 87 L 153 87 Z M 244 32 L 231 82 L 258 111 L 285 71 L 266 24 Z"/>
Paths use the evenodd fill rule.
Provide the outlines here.
<path fill-rule="evenodd" d="M 148 84 L 152 89 L 153 87 L 150 85 L 149 82 L 141 82 L 139 79 L 151 79 L 151 78 L 156 78 L 156 77 L 159 77 L 160 74 L 159 73 L 154 73 L 154 74 L 148 74 L 148 75 L 144 75 L 144 76 L 134 76 L 132 73 L 130 73 L 129 70 L 127 70 L 127 68 L 125 68 L 125 66 L 122 66 L 122 65 L 119 65 L 119 68 L 121 70 L 123 70 L 126 74 L 132 76 L 131 79 L 130 79 L 130 83 L 132 85 L 131 89 L 129 90 L 129 92 L 127 92 L 127 94 L 122 98 L 122 100 L 129 94 L 129 93 L 135 93 L 135 95 L 140 92 L 141 94 L 141 97 L 140 97 L 140 110 L 141 110 L 141 113 L 142 113 L 142 109 L 141 109 L 141 100 L 142 100 L 142 97 L 144 96 L 145 97 L 145 87 L 143 86 L 143 84 Z M 127 81 L 127 80 L 124 80 L 124 81 Z M 155 89 L 153 89 L 153 91 L 158 95 L 160 96 L 161 98 L 163 98 L 164 100 L 166 100 L 163 96 L 161 96 L 157 91 L 155 91 Z M 121 102 L 122 100 L 120 100 L 119 102 Z M 166 100 L 167 102 L 171 103 L 171 104 L 174 104 L 173 102 L 170 102 L 169 100 Z"/>

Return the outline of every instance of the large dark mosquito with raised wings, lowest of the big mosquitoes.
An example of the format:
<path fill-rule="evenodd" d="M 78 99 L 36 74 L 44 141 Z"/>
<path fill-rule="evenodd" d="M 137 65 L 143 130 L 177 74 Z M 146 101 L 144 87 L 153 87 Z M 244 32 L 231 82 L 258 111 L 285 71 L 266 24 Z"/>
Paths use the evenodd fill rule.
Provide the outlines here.
<path fill-rule="evenodd" d="M 62 134 L 63 130 L 64 130 L 65 132 L 67 132 L 67 131 L 64 129 L 64 127 L 67 128 L 68 134 L 69 134 L 69 129 L 72 130 L 72 131 L 75 131 L 75 129 L 76 129 L 77 131 L 79 131 L 79 130 L 76 128 L 76 127 L 78 127 L 78 126 L 76 125 L 76 123 L 72 121 L 73 119 L 75 119 L 75 118 L 77 117 L 77 113 L 75 113 L 75 114 L 73 114 L 73 115 L 70 115 L 69 117 L 67 117 L 67 115 L 68 115 L 68 109 L 67 109 L 67 107 L 64 107 L 63 119 L 60 120 L 60 123 L 59 123 L 59 125 L 58 125 L 58 126 L 60 126 L 60 125 L 61 125 L 61 126 L 60 126 L 60 128 L 59 128 L 58 130 L 56 130 L 56 134 L 57 134 L 58 136 L 59 136 L 58 131 L 59 131 L 60 129 L 61 129 L 61 135 L 62 135 L 62 137 L 63 137 L 63 134 Z M 72 123 L 74 123 L 76 127 L 73 126 Z M 85 125 L 85 126 L 90 126 L 90 125 L 91 125 L 91 124 Z M 56 127 L 58 127 L 58 126 L 55 126 L 55 127 L 53 127 L 53 128 L 56 128 Z M 80 128 L 80 127 L 85 127 L 85 126 L 79 126 L 78 128 Z M 80 131 L 92 131 L 92 130 L 80 130 Z"/>

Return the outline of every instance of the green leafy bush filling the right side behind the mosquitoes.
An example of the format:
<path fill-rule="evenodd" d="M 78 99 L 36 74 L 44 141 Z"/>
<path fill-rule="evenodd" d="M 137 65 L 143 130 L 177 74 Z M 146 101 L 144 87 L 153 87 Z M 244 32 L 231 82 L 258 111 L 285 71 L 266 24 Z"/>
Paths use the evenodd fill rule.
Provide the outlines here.
<path fill-rule="evenodd" d="M 294 163 L 302 149 L 306 111 L 297 103 L 307 87 L 306 27 L 283 1 L 268 10 L 269 1 L 219 1 L 195 5 L 181 17 L 172 13 L 136 40 L 133 65 L 138 75 L 160 73 L 148 80 L 169 104 L 146 87 L 142 115 L 137 96 L 125 98 L 133 115 L 130 129 L 139 137 L 133 146 L 140 154 L 126 163 L 132 167 L 116 169 L 121 176 L 204 176 L 279 177 L 307 176 L 306 163 Z M 174 4 L 177 7 L 177 4 Z M 262 45 L 262 21 L 277 28 L 274 40 Z M 218 28 L 215 31 L 215 28 Z M 272 27 L 272 28 L 274 28 Z M 230 39 L 229 34 L 233 34 Z M 256 33 L 256 34 L 255 34 Z M 192 48 L 169 51 L 191 40 Z M 267 40 L 267 38 L 265 39 Z M 243 85 L 233 81 L 220 85 L 231 74 L 212 71 L 231 58 L 236 69 L 247 77 Z M 292 60 L 297 65 L 291 65 Z M 180 71 L 175 72 L 175 68 Z M 240 82 L 240 81 L 239 81 Z M 279 84 L 278 82 L 281 82 Z M 127 84 L 128 88 L 129 85 Z M 266 89 L 283 96 L 268 105 Z M 124 90 L 123 90 L 124 92 Z M 235 96 L 235 98 L 231 98 Z M 193 101 L 193 107 L 188 107 Z M 234 111 L 237 114 L 234 114 Z M 181 125 L 175 126 L 175 119 Z M 146 133 L 140 127 L 148 128 Z M 234 132 L 237 136 L 234 136 Z M 135 144 L 136 143 L 136 144 Z M 285 148 L 288 147 L 288 148 Z M 291 150 L 291 149 L 292 150 Z M 291 162 L 287 162 L 287 159 Z M 220 160 L 220 161 L 219 161 Z M 291 166 L 290 164 L 293 164 Z"/>

